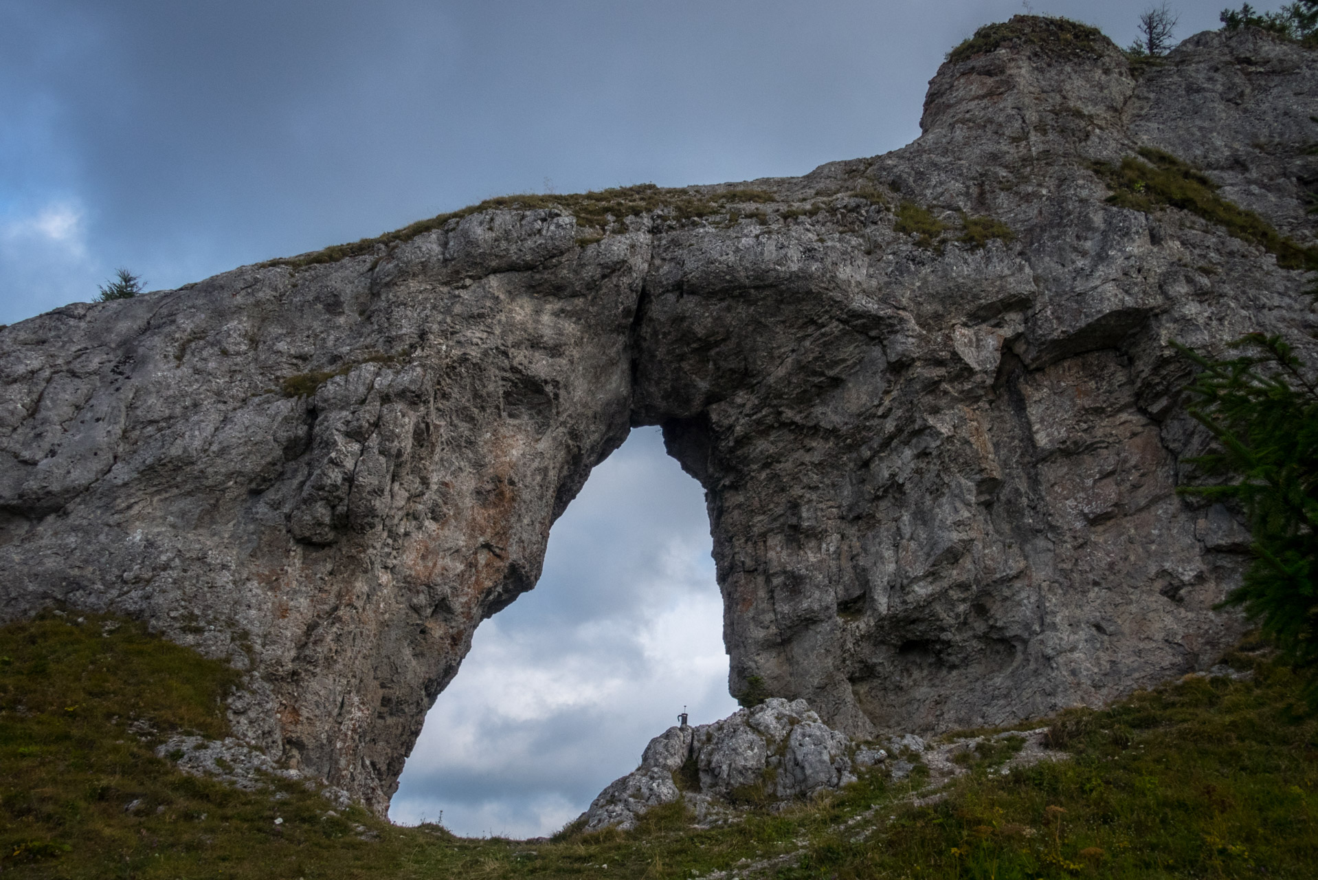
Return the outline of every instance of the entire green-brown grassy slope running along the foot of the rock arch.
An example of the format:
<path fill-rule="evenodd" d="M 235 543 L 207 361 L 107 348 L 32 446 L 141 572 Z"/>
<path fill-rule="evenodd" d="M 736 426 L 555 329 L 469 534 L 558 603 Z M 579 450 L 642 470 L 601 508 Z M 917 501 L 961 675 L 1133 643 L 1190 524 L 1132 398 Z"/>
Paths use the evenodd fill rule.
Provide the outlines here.
<path fill-rule="evenodd" d="M 233 673 L 137 624 L 103 636 L 103 623 L 0 628 L 8 876 L 691 877 L 791 852 L 766 876 L 1311 877 L 1318 865 L 1318 722 L 1289 672 L 1243 653 L 1231 661 L 1255 681 L 1190 678 L 1065 712 L 1053 734 L 1069 760 L 996 776 L 1006 753 L 986 755 L 931 806 L 905 802 L 917 781 L 875 776 L 724 829 L 693 831 L 672 805 L 629 834 L 523 843 L 393 827 L 357 807 L 326 817 L 297 784 L 244 793 L 178 773 L 152 745 L 173 730 L 223 735 Z M 159 734 L 141 741 L 134 719 Z"/>

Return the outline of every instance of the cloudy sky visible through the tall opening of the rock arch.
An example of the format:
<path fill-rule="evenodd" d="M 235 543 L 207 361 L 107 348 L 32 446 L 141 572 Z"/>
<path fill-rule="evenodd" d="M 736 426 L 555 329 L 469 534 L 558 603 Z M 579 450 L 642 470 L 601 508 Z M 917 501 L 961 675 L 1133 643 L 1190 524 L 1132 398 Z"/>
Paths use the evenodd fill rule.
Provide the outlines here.
<path fill-rule="evenodd" d="M 536 588 L 476 632 L 407 760 L 390 815 L 534 836 L 576 818 L 687 706 L 728 695 L 700 487 L 639 429 L 555 524 Z"/>

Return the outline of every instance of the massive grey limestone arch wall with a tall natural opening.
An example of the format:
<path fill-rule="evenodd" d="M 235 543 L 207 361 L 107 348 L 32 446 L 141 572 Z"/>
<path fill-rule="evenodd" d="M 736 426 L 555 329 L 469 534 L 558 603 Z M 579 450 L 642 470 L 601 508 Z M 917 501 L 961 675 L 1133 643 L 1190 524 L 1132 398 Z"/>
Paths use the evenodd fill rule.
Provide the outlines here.
<path fill-rule="evenodd" d="M 1205 437 L 1169 340 L 1311 352 L 1314 55 L 1205 33 L 1136 77 L 1097 32 L 995 28 L 876 158 L 497 199 L 0 331 L 0 616 L 231 658 L 236 734 L 382 814 L 477 624 L 660 425 L 706 492 L 734 694 L 863 738 L 1211 664 L 1247 536 L 1174 493 Z"/>

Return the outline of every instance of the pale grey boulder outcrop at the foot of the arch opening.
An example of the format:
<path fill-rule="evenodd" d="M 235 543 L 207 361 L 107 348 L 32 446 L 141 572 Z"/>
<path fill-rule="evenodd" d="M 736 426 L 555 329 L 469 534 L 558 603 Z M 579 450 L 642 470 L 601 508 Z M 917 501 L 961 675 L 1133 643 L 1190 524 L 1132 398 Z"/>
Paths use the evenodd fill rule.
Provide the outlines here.
<path fill-rule="evenodd" d="M 581 814 L 585 830 L 633 829 L 646 810 L 685 797 L 697 818 L 749 794 L 789 801 L 855 781 L 857 765 L 886 757 L 857 753 L 847 736 L 820 720 L 804 699 L 772 697 L 699 727 L 670 727 L 650 740 L 641 767 L 604 789 Z"/>

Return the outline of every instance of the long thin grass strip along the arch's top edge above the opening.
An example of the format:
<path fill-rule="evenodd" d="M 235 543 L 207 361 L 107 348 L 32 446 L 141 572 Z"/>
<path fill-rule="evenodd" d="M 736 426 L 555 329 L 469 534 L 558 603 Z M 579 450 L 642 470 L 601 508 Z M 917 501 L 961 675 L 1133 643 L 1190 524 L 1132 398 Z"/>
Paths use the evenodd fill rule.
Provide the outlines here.
<path fill-rule="evenodd" d="M 585 247 L 601 240 L 606 232 L 625 232 L 626 218 L 629 216 L 639 216 L 651 211 L 667 211 L 667 216 L 671 220 L 683 223 L 716 214 L 728 214 L 729 206 L 733 204 L 763 204 L 774 202 L 776 198 L 772 193 L 764 190 L 721 190 L 706 193 L 693 189 L 663 189 L 654 183 L 618 186 L 571 195 L 500 195 L 457 211 L 439 214 L 426 220 L 416 220 L 401 230 L 385 232 L 373 239 L 335 244 L 297 257 L 268 260 L 261 265 L 282 265 L 301 269 L 320 263 L 337 263 L 348 257 L 372 253 L 376 245 L 380 244 L 389 245 L 410 241 L 418 235 L 444 228 L 451 220 L 460 220 L 464 216 L 471 216 L 481 211 L 534 211 L 543 208 L 565 211 L 576 218 L 577 226 L 593 231 L 577 239 L 577 244 Z"/>

